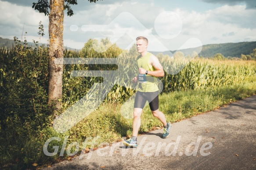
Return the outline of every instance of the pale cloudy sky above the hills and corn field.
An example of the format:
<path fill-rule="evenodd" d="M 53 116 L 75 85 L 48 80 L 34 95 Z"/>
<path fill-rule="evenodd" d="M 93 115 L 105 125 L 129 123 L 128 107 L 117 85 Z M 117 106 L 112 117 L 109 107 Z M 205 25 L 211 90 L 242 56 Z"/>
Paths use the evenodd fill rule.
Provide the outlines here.
<path fill-rule="evenodd" d="M 37 0 L 0 0 L 0 37 L 48 42 L 49 18 Z M 108 37 L 122 49 L 148 38 L 148 51 L 256 41 L 256 0 L 77 0 L 64 17 L 64 46 L 81 49 L 88 39 Z M 45 35 L 37 34 L 42 21 Z M 22 33 L 23 32 L 23 33 Z M 25 32 L 27 32 L 25 34 Z"/>

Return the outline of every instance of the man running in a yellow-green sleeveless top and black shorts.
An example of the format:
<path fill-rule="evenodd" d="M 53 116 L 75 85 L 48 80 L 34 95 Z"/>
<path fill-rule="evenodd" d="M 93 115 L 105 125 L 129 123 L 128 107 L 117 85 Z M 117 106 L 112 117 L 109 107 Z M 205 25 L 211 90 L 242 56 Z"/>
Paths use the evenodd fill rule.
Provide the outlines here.
<path fill-rule="evenodd" d="M 171 124 L 166 122 L 166 117 L 159 111 L 159 88 L 156 84 L 156 77 L 163 77 L 164 71 L 157 57 L 147 51 L 148 39 L 140 36 L 136 39 L 137 51 L 141 55 L 137 57 L 139 74 L 133 78 L 133 83 L 139 82 L 133 110 L 133 135 L 130 139 L 124 140 L 126 146 L 137 146 L 137 134 L 141 126 L 141 113 L 148 100 L 151 112 L 163 124 L 163 138 L 169 136 Z"/>

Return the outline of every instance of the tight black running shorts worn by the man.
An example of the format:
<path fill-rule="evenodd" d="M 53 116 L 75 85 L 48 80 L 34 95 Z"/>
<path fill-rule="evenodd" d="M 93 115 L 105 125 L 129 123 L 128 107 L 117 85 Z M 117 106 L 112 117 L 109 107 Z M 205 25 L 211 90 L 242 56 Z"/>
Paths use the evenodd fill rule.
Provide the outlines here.
<path fill-rule="evenodd" d="M 134 102 L 134 108 L 143 109 L 145 103 L 149 103 L 150 110 L 155 111 L 159 109 L 158 91 L 156 92 L 137 92 Z"/>

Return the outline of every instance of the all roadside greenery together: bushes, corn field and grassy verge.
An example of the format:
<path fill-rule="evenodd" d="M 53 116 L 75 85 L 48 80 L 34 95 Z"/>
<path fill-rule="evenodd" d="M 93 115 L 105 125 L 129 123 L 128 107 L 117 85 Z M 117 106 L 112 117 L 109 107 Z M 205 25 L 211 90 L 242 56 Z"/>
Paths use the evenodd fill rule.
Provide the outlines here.
<path fill-rule="evenodd" d="M 0 49 L 0 166 L 26 169 L 67 159 L 66 151 L 63 156 L 59 156 L 65 136 L 69 137 L 66 146 L 72 142 L 79 143 L 79 153 L 81 150 L 90 150 L 90 145 L 82 148 L 82 142 L 86 138 L 100 136 L 97 141 L 99 144 L 111 144 L 120 141 L 123 136 L 132 134 L 132 112 L 125 117 L 120 111 L 123 103 L 136 92 L 132 89 L 131 81 L 126 87 L 113 82 L 112 90 L 97 110 L 64 134 L 54 131 L 52 124 L 56 115 L 50 114 L 47 105 L 48 47 L 34 42 L 36 48 L 32 48 L 27 46 L 26 41 L 20 42 L 16 37 L 14 41 L 16 46 L 13 49 Z M 98 53 L 92 48 L 93 43 L 97 43 L 101 51 L 105 51 L 106 46 L 108 50 Z M 129 51 L 122 50 L 109 39 L 102 39 L 99 42 L 90 39 L 81 51 L 65 50 L 65 58 L 119 56 L 119 61 L 123 65 L 64 65 L 62 110 L 66 110 L 85 96 L 94 83 L 103 81 L 99 77 L 72 77 L 72 71 L 119 69 L 123 75 L 136 74 L 137 71 L 133 67 L 138 53 L 134 48 L 136 46 Z M 161 55 L 158 57 L 161 58 L 160 62 L 166 73 L 160 78 L 163 90 L 159 97 L 159 109 L 170 122 L 205 113 L 256 94 L 254 60 L 222 60 L 220 54 L 216 54 L 213 58 L 218 60 L 187 57 L 186 62 L 189 63 L 186 64 L 180 57 L 166 60 L 167 56 Z M 173 67 L 169 67 L 170 64 Z M 173 71 L 171 69 L 181 71 L 175 75 L 168 74 Z M 120 81 L 122 78 L 120 77 Z M 143 134 L 161 126 L 151 115 L 149 106 L 146 106 L 139 133 Z M 59 137 L 61 140 L 50 142 L 48 151 L 54 152 L 54 145 L 60 147 L 56 155 L 46 156 L 43 145 L 51 137 Z M 93 147 L 95 148 L 97 145 Z M 75 146 L 70 152 L 74 151 Z"/>

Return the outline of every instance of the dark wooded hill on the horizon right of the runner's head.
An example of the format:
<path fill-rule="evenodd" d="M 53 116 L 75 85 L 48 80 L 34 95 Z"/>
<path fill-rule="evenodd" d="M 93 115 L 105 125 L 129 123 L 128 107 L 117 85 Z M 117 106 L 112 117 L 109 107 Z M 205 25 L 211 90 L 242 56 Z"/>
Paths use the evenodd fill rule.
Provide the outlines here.
<path fill-rule="evenodd" d="M 193 50 L 196 50 L 197 48 L 190 48 L 190 49 L 184 49 L 179 50 L 186 54 L 190 54 Z M 253 52 L 253 49 L 256 49 L 256 41 L 252 42 L 241 42 L 241 43 L 222 43 L 222 44 L 209 44 L 209 45 L 203 45 L 202 51 L 199 53 L 199 56 L 203 57 L 213 57 L 216 53 L 221 53 L 225 57 L 241 57 L 241 54 L 249 55 Z M 175 51 L 171 51 L 174 53 Z M 163 53 L 166 55 L 168 52 L 151 52 L 155 55 L 158 53 Z"/>

